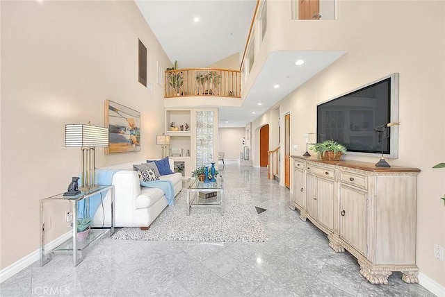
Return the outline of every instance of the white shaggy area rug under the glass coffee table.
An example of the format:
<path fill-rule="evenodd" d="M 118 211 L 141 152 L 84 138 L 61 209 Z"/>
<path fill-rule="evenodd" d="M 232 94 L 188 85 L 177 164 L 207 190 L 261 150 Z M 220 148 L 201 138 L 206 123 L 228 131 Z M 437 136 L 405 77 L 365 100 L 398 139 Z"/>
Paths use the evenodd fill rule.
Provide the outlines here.
<path fill-rule="evenodd" d="M 130 240 L 268 241 L 247 189 L 225 189 L 225 212 L 219 208 L 192 208 L 186 215 L 183 189 L 154 220 L 149 230 L 122 228 L 111 238 Z"/>

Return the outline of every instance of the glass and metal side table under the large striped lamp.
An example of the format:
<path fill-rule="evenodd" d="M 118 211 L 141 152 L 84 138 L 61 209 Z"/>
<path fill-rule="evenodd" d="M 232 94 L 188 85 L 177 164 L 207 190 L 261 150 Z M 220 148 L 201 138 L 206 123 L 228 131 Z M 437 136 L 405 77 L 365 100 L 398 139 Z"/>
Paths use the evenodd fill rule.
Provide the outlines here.
<path fill-rule="evenodd" d="M 77 236 L 77 203 L 79 201 L 85 201 L 86 204 L 86 213 L 90 213 L 90 197 L 95 196 L 96 194 L 106 195 L 107 191 L 111 192 L 111 228 L 109 228 L 108 236 L 114 233 L 114 186 L 99 186 L 93 189 L 89 189 L 88 191 L 81 191 L 80 194 L 76 196 L 63 196 L 63 194 L 58 194 L 55 196 L 51 196 L 48 198 L 40 199 L 40 266 L 47 264 L 52 259 L 52 255 L 56 252 L 67 253 L 72 252 L 73 255 L 73 266 L 77 266 L 80 262 L 82 262 L 82 251 L 87 246 L 89 246 L 93 241 L 99 239 L 108 232 L 108 228 L 95 228 L 90 229 L 90 233 L 88 237 L 84 241 L 76 240 Z M 72 237 L 67 239 L 62 244 L 59 244 L 56 248 L 51 250 L 48 255 L 45 255 L 44 251 L 44 232 L 45 232 L 45 222 L 44 222 L 44 205 L 45 203 L 55 203 L 60 201 L 70 201 L 72 208 Z M 105 215 L 105 214 L 104 214 Z"/>

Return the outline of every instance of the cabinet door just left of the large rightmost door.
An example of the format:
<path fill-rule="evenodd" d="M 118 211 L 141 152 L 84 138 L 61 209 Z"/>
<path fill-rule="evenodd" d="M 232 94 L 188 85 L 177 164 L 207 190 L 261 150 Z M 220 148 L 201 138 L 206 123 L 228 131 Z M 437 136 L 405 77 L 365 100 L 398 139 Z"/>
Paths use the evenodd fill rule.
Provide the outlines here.
<path fill-rule="evenodd" d="M 317 221 L 329 230 L 334 229 L 334 180 L 317 178 Z"/>

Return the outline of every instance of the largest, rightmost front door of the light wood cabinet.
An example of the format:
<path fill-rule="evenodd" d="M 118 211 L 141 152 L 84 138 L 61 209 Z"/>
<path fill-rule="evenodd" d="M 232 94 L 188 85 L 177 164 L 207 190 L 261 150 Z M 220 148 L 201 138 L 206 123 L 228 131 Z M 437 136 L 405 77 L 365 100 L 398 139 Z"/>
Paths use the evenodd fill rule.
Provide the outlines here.
<path fill-rule="evenodd" d="M 358 189 L 340 185 L 340 237 L 363 255 L 366 252 L 367 195 Z"/>

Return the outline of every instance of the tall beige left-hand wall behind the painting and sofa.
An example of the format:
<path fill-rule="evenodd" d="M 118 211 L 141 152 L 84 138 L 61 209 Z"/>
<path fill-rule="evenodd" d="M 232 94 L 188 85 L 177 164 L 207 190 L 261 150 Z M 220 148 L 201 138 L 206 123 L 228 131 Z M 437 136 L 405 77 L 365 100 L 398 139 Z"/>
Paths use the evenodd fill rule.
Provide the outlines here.
<path fill-rule="evenodd" d="M 163 87 L 170 65 L 133 1 L 1 1 L 0 269 L 39 247 L 39 199 L 65 192 L 80 149 L 64 147 L 65 124 L 104 125 L 104 101 L 141 112 L 141 151 L 104 155 L 97 167 L 160 157 Z M 147 78 L 138 83 L 138 38 Z M 50 240 L 67 230 L 51 212 Z M 51 231 L 53 231 L 51 234 Z"/>

